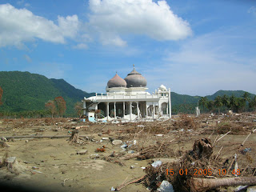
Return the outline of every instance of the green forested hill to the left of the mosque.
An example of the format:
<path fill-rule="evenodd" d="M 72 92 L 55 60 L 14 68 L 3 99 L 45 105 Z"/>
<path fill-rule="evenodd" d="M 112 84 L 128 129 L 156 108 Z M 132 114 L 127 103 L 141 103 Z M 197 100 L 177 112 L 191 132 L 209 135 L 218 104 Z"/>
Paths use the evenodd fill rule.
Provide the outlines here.
<path fill-rule="evenodd" d="M 62 96 L 66 101 L 66 114 L 74 114 L 74 103 L 93 95 L 63 79 L 20 71 L 0 71 L 0 86 L 3 90 L 0 111 L 10 112 L 44 110 L 47 101 Z"/>

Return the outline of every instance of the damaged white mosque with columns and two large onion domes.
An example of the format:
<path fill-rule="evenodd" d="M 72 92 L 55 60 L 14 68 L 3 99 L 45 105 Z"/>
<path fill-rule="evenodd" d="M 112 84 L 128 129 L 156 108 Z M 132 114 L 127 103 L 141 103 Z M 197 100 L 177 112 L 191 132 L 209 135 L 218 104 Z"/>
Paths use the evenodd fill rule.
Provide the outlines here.
<path fill-rule="evenodd" d="M 93 122 L 98 111 L 101 121 L 171 118 L 170 88 L 161 85 L 153 94 L 146 90 L 146 78 L 135 68 L 124 79 L 115 74 L 107 82 L 106 94 L 82 100 L 83 114 Z"/>

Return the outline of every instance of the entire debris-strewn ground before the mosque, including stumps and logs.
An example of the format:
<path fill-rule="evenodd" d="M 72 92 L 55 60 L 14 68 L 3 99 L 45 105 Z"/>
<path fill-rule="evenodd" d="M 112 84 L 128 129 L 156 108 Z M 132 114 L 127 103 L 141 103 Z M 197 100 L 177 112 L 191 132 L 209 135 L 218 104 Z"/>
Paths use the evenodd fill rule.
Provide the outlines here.
<path fill-rule="evenodd" d="M 256 114 L 0 119 L 0 181 L 34 191 L 254 191 Z"/>

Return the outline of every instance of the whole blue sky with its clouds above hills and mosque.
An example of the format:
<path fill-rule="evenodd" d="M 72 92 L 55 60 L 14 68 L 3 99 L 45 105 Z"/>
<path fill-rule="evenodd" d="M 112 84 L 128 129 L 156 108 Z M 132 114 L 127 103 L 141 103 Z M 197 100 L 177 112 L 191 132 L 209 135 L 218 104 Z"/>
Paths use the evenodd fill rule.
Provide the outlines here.
<path fill-rule="evenodd" d="M 256 94 L 255 1 L 0 2 L 1 70 L 63 78 L 87 92 L 136 70 L 152 92 Z"/>

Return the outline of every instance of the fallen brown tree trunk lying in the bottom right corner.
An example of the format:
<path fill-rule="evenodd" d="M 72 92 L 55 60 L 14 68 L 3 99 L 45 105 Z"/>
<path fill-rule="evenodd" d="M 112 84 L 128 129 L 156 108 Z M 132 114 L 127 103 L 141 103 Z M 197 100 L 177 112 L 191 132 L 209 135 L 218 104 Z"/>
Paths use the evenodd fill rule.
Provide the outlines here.
<path fill-rule="evenodd" d="M 241 178 L 190 178 L 190 191 L 203 192 L 220 186 L 256 185 L 256 177 Z"/>

